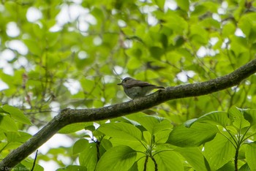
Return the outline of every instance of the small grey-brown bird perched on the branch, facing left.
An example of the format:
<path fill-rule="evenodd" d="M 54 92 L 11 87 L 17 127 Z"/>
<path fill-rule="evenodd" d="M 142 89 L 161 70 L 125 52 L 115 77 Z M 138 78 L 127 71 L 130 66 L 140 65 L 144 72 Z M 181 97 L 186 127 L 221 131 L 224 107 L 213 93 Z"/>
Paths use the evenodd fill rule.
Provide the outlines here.
<path fill-rule="evenodd" d="M 137 99 L 150 93 L 154 89 L 165 89 L 162 86 L 156 86 L 141 80 L 135 80 L 131 77 L 126 77 L 118 85 L 123 86 L 125 94 L 131 99 Z"/>

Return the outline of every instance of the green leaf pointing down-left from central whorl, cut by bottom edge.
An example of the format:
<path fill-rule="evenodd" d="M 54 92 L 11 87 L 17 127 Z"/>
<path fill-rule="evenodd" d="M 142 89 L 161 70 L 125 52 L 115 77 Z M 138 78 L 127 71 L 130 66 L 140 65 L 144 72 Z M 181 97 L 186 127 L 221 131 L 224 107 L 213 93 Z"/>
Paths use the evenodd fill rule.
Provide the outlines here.
<path fill-rule="evenodd" d="M 97 163 L 96 171 L 129 170 L 135 163 L 137 152 L 126 145 L 118 145 L 110 148 Z"/>

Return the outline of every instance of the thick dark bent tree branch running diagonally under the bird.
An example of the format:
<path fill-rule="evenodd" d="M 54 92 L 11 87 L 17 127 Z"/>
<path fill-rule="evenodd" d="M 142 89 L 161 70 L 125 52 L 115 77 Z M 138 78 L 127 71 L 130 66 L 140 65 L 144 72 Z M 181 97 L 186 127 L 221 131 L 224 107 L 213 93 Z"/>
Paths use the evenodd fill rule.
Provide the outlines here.
<path fill-rule="evenodd" d="M 223 77 L 217 77 L 203 83 L 193 83 L 175 87 L 168 87 L 165 91 L 157 91 L 154 94 L 135 99 L 121 104 L 113 104 L 108 107 L 94 109 L 65 109 L 59 115 L 53 118 L 45 127 L 43 127 L 31 139 L 20 145 L 19 148 L 12 151 L 6 158 L 0 162 L 0 170 L 9 170 L 20 161 L 29 156 L 43 143 L 50 139 L 53 134 L 70 123 L 99 121 L 118 116 L 135 113 L 154 107 L 157 104 L 166 102 L 170 99 L 180 99 L 189 96 L 201 96 L 221 91 L 225 88 L 238 85 L 242 80 L 256 72 L 256 59 L 236 69 L 234 72 Z"/>

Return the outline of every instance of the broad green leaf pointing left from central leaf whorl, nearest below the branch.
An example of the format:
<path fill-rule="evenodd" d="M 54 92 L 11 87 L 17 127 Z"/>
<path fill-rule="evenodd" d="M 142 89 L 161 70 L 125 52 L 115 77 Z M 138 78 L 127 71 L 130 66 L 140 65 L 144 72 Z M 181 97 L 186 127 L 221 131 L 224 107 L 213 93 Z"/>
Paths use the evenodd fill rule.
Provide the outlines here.
<path fill-rule="evenodd" d="M 140 129 L 129 123 L 105 123 L 97 129 L 110 137 L 138 141 L 142 138 Z"/>

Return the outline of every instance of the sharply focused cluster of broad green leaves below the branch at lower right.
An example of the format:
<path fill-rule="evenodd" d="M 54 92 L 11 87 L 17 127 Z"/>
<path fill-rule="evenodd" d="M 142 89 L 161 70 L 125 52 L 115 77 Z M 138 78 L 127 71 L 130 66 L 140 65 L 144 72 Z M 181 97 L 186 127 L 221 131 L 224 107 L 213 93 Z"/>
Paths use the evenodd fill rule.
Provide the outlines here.
<path fill-rule="evenodd" d="M 244 115 L 251 116 L 250 122 Z M 92 129 L 92 142 L 78 140 L 73 153 L 87 170 L 234 170 L 245 164 L 254 170 L 255 116 L 255 110 L 231 107 L 174 129 L 165 118 L 124 117 L 128 123 L 102 123 Z M 95 136 L 97 131 L 102 134 Z"/>

